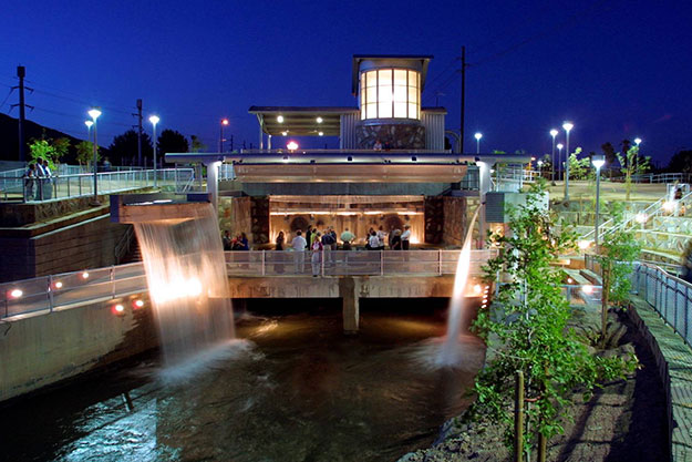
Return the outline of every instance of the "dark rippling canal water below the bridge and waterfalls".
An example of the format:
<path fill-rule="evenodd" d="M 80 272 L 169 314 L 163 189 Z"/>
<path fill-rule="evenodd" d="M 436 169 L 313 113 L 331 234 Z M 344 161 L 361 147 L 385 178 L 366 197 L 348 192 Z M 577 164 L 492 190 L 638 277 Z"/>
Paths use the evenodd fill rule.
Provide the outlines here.
<path fill-rule="evenodd" d="M 462 368 L 428 367 L 446 302 L 362 304 L 353 337 L 338 309 L 276 304 L 240 315 L 238 340 L 190 370 L 162 373 L 154 352 L 0 409 L 0 459 L 393 461 L 468 404 L 477 342 Z"/>

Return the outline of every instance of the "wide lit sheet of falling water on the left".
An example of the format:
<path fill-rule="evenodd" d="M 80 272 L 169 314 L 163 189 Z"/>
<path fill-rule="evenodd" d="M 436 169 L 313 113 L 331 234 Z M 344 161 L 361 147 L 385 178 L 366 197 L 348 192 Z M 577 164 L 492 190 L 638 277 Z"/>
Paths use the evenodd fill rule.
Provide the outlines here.
<path fill-rule="evenodd" d="M 190 218 L 134 225 L 166 366 L 235 337 L 216 214 L 200 204 Z"/>

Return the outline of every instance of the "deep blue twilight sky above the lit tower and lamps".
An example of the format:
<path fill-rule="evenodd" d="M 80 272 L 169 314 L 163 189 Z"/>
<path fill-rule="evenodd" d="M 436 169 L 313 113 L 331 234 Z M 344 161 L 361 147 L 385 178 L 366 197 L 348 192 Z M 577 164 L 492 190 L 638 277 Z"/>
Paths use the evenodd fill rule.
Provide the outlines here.
<path fill-rule="evenodd" d="M 21 63 L 35 89 L 29 119 L 84 137 L 87 106 L 101 105 L 103 144 L 134 123 L 142 97 L 162 129 L 200 135 L 210 151 L 223 116 L 236 147 L 257 146 L 252 104 L 355 106 L 359 53 L 433 54 L 423 103 L 443 93 L 447 129 L 458 129 L 464 44 L 467 152 L 481 131 L 482 151 L 547 153 L 548 131 L 566 119 L 570 144 L 587 152 L 636 136 L 663 163 L 692 148 L 692 4 L 683 0 L 1 4 L 0 102 Z M 16 102 L 10 94 L 0 111 Z"/>

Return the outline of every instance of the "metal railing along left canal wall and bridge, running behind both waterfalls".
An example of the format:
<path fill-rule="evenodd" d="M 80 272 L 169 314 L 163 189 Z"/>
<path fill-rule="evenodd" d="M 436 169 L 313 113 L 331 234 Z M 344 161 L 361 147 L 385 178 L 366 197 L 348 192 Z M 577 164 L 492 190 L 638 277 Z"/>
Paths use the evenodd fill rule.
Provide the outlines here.
<path fill-rule="evenodd" d="M 322 276 L 440 276 L 456 271 L 461 250 L 331 250 L 312 260 L 311 251 L 226 251 L 228 276 L 310 276 L 317 265 Z M 471 275 L 495 255 L 473 250 Z M 393 284 L 396 284 L 395 281 Z M 147 290 L 144 265 L 138 263 L 63 273 L 0 284 L 0 319 L 32 312 L 52 312 Z"/>

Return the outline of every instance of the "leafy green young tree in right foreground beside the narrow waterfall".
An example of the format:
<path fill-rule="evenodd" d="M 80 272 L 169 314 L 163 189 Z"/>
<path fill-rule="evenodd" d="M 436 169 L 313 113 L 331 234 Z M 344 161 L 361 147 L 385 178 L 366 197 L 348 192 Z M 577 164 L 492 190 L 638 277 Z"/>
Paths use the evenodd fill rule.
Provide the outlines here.
<path fill-rule="evenodd" d="M 510 235 L 489 234 L 489 243 L 500 251 L 488 261 L 486 279 L 498 284 L 497 275 L 504 275 L 504 283 L 493 309 L 482 309 L 474 322 L 490 359 L 476 377 L 472 412 L 506 425 L 508 441 L 515 371 L 524 372 L 526 398 L 535 400 L 526 410 L 528 428 L 549 439 L 562 433 L 561 411 L 577 387 L 588 398 L 599 380 L 623 377 L 633 368 L 621 358 L 590 355 L 567 328 L 571 311 L 560 289 L 562 274 L 551 264 L 575 248 L 576 236 L 555 229 L 545 194 L 545 182 L 539 182 L 526 205 L 510 211 Z M 525 441 L 533 445 L 536 438 Z"/>

